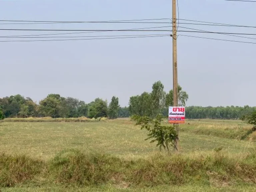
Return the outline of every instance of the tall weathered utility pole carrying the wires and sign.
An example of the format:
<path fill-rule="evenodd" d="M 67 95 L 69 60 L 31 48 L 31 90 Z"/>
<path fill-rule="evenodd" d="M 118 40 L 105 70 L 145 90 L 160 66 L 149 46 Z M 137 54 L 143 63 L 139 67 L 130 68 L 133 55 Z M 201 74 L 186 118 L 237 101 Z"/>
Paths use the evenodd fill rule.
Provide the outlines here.
<path fill-rule="evenodd" d="M 178 70 L 177 70 L 177 19 L 176 0 L 172 0 L 172 58 L 173 58 L 173 106 L 178 107 Z M 174 124 L 179 136 L 179 124 Z M 179 151 L 179 137 L 174 141 L 174 151 Z"/>

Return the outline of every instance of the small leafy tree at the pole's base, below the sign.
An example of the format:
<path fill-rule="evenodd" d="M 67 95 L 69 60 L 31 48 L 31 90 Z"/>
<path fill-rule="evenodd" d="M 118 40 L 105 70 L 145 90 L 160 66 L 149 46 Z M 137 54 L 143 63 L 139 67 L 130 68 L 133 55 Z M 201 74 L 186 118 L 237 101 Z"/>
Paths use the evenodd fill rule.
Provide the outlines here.
<path fill-rule="evenodd" d="M 155 119 L 133 115 L 131 119 L 136 121 L 136 125 L 140 125 L 141 129 L 149 131 L 148 138 L 145 140 L 152 139 L 150 143 L 157 141 L 156 146 L 159 147 L 160 150 L 163 147 L 169 152 L 169 147 L 174 146 L 174 140 L 177 137 L 177 132 L 173 126 L 161 125 L 163 115 L 157 115 Z"/>

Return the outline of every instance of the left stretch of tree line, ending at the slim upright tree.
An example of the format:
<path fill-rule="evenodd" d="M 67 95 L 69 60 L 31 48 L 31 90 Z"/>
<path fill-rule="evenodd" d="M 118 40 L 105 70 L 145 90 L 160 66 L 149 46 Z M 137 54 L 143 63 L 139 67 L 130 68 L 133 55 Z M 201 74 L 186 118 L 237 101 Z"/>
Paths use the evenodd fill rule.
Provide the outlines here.
<path fill-rule="evenodd" d="M 61 97 L 59 94 L 49 94 L 39 104 L 35 103 L 31 98 L 25 98 L 19 94 L 0 98 L 0 118 L 109 117 L 110 119 L 115 119 L 119 115 L 119 110 L 118 97 L 115 96 L 112 97 L 109 105 L 107 101 L 100 98 L 96 98 L 86 104 L 84 101 L 72 97 Z"/>

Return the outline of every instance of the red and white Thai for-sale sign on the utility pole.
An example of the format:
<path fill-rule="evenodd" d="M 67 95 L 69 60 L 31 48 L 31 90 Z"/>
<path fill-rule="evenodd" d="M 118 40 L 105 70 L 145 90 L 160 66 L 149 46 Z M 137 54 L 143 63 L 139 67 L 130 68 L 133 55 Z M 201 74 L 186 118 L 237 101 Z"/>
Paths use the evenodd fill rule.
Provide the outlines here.
<path fill-rule="evenodd" d="M 185 107 L 169 107 L 169 123 L 185 123 Z"/>

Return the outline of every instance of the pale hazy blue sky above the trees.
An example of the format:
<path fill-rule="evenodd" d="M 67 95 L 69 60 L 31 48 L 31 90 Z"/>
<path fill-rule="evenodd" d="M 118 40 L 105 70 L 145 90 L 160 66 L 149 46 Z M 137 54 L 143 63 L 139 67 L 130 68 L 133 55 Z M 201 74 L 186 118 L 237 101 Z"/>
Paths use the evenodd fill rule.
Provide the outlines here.
<path fill-rule="evenodd" d="M 178 2 L 180 19 L 250 26 L 255 24 L 256 3 L 224 0 Z M 171 0 L 0 0 L 0 20 L 106 21 L 171 17 Z M 168 25 L 1 24 L 0 29 L 106 30 Z M 180 24 L 178 30 L 187 30 L 181 27 L 256 33 L 253 28 Z M 53 32 L 0 30 L 0 36 L 46 33 Z M 104 32 L 100 35 L 154 33 L 163 34 Z M 178 34 L 256 42 L 220 34 Z M 256 106 L 255 44 L 185 36 L 179 36 L 177 43 L 178 83 L 189 94 L 187 106 Z M 0 78 L 0 97 L 21 94 L 39 102 L 50 93 L 58 93 L 89 103 L 97 97 L 110 101 L 112 96 L 117 96 L 120 105 L 127 106 L 131 96 L 150 92 L 152 84 L 158 80 L 163 83 L 165 91 L 172 89 L 172 38 L 0 42 Z"/>

